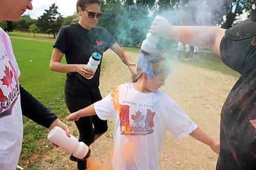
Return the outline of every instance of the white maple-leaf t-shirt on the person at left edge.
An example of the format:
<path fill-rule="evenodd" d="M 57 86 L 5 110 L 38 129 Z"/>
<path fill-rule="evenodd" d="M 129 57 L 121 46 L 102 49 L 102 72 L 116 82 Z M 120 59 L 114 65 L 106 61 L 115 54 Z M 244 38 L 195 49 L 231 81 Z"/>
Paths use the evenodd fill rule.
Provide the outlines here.
<path fill-rule="evenodd" d="M 9 36 L 0 28 L 0 169 L 14 170 L 22 148 L 20 71 Z"/>

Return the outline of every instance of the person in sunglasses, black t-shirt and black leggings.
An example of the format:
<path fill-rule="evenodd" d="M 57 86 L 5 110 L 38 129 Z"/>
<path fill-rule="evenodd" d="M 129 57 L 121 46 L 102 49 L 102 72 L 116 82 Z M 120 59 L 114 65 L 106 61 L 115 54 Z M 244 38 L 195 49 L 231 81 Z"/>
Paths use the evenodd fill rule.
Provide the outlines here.
<path fill-rule="evenodd" d="M 129 55 L 116 43 L 108 31 L 96 27 L 96 23 L 103 13 L 100 11 L 99 0 L 78 0 L 76 9 L 79 21 L 60 29 L 53 45 L 50 69 L 57 72 L 67 72 L 65 83 L 65 101 L 69 111 L 75 112 L 102 99 L 99 91 L 100 66 L 96 72 L 87 68 L 89 58 L 93 53 L 103 52 L 111 48 L 130 69 L 136 74 L 136 65 Z M 60 63 L 65 54 L 67 64 Z M 92 77 L 92 79 L 88 79 Z M 79 141 L 88 146 L 108 129 L 106 120 L 97 115 L 83 117 L 75 122 L 79 130 Z M 86 169 L 87 161 L 76 159 L 77 168 Z"/>

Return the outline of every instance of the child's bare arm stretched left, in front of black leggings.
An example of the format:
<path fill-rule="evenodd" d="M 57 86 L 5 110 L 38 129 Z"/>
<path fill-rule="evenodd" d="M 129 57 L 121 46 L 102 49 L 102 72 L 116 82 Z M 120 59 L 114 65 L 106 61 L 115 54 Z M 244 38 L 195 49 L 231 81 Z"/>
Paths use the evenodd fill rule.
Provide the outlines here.
<path fill-rule="evenodd" d="M 84 117 L 84 116 L 92 116 L 92 115 L 95 115 L 96 112 L 94 110 L 94 104 L 86 107 L 86 108 L 83 108 L 81 110 L 78 110 L 74 113 L 71 113 L 68 117 L 68 121 L 77 121 L 80 117 Z"/>

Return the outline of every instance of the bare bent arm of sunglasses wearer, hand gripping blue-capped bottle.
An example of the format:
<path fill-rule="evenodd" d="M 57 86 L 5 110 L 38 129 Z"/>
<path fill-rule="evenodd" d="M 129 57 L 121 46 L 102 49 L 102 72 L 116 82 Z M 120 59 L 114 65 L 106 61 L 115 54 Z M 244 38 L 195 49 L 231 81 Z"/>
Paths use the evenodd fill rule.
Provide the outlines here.
<path fill-rule="evenodd" d="M 57 72 L 78 72 L 85 78 L 90 78 L 94 75 L 94 72 L 87 68 L 87 64 L 63 64 L 61 59 L 63 53 L 58 48 L 53 48 L 52 58 L 50 61 L 50 69 Z"/>

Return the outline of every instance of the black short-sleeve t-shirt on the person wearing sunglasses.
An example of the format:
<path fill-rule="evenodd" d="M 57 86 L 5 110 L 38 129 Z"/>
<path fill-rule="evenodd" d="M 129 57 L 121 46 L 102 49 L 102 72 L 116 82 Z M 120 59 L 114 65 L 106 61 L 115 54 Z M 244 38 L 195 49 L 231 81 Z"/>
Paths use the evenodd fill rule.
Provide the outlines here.
<path fill-rule="evenodd" d="M 67 64 L 87 64 L 93 53 L 97 52 L 103 57 L 103 52 L 114 43 L 115 39 L 105 29 L 94 27 L 87 30 L 74 23 L 59 30 L 53 47 L 65 54 Z M 92 79 L 86 79 L 78 72 L 68 72 L 65 90 L 81 97 L 98 94 L 100 66 L 101 62 Z"/>

